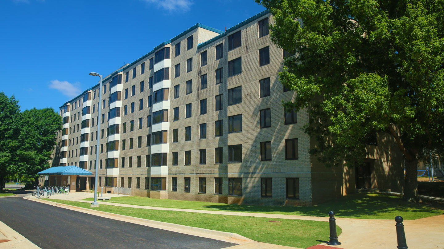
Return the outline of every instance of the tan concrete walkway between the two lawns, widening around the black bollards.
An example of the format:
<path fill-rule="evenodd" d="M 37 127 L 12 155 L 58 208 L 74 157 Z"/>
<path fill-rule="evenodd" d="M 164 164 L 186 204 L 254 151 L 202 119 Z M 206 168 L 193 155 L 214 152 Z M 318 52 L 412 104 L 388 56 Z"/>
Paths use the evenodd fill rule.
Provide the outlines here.
<path fill-rule="evenodd" d="M 105 195 L 103 195 L 105 196 Z M 111 195 L 106 196 L 124 196 Z M 92 193 L 70 193 L 68 195 L 53 195 L 51 198 L 72 200 L 79 202 L 84 198 L 93 197 Z M 136 206 L 128 204 L 120 204 L 113 202 L 99 202 L 99 204 L 124 206 L 140 209 L 153 210 L 174 210 L 193 213 L 205 214 L 225 214 L 238 216 L 254 216 L 266 218 L 282 218 L 282 219 L 298 219 L 298 220 L 313 220 L 324 221 L 325 226 L 328 226 L 328 216 L 313 217 L 301 215 L 287 215 L 287 214 L 265 214 L 265 213 L 246 213 L 246 212 L 229 212 L 229 211 L 213 211 L 213 210 L 191 210 L 180 208 L 163 208 L 152 206 Z M 337 225 L 341 227 L 342 234 L 339 236 L 339 241 L 342 243 L 339 247 L 341 249 L 391 249 L 396 248 L 396 222 L 393 220 L 377 220 L 377 219 L 352 219 L 352 218 L 337 218 Z M 444 248 L 444 215 L 433 216 L 429 218 L 422 218 L 417 220 L 404 221 L 404 230 L 407 238 L 407 245 L 409 248 L 420 249 L 443 249 Z M 328 235 L 326 235 L 328 237 Z M 326 244 L 321 244 L 326 245 Z"/>

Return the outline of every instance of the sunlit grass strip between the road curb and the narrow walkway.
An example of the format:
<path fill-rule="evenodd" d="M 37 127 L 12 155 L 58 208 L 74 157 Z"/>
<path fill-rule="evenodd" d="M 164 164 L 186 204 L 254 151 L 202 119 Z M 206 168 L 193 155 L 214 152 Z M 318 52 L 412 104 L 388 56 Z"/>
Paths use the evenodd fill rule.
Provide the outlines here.
<path fill-rule="evenodd" d="M 57 199 L 52 202 L 80 206 L 89 209 L 123 214 L 155 221 L 194 226 L 223 232 L 238 233 L 255 241 L 277 245 L 306 248 L 329 239 L 329 223 L 317 221 L 271 219 L 262 217 L 231 216 L 220 214 L 196 214 L 190 212 L 149 210 L 101 204 L 90 208 L 90 203 Z M 278 222 L 270 222 L 270 220 Z M 337 226 L 338 234 L 341 228 Z"/>

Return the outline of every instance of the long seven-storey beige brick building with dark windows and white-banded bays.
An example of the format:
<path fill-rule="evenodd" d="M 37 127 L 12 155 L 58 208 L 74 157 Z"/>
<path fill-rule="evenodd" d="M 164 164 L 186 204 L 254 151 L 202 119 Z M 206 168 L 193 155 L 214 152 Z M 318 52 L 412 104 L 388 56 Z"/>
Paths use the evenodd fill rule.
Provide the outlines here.
<path fill-rule="evenodd" d="M 308 111 L 282 106 L 296 93 L 278 80 L 291 55 L 271 42 L 272 22 L 264 11 L 225 32 L 198 23 L 105 77 L 102 103 L 99 84 L 66 102 L 52 166 L 91 171 L 77 189 L 93 188 L 99 167 L 103 191 L 208 202 L 308 206 L 354 192 L 358 179 L 399 190 L 402 156 L 380 155 L 392 141 L 369 145 L 364 170 L 309 155 Z"/>

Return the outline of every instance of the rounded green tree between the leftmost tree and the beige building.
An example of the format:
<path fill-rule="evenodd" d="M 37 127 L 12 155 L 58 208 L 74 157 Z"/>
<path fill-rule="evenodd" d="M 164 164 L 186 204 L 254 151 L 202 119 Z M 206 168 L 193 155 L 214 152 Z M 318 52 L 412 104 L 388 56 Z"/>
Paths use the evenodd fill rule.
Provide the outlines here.
<path fill-rule="evenodd" d="M 19 171 L 35 179 L 37 173 L 50 167 L 56 134 L 62 128 L 62 118 L 52 108 L 25 110 L 20 113 Z"/>

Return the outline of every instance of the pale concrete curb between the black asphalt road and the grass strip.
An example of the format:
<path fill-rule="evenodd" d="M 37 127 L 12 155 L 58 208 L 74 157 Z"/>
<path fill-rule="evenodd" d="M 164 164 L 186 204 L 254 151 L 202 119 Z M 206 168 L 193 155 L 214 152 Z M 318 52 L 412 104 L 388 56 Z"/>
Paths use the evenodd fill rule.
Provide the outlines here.
<path fill-rule="evenodd" d="M 87 214 L 93 214 L 93 215 L 97 215 L 100 217 L 111 218 L 111 219 L 124 221 L 124 222 L 131 222 L 131 223 L 135 223 L 135 224 L 139 224 L 139 225 L 143 225 L 143 226 L 150 226 L 150 227 L 159 228 L 159 229 L 163 229 L 163 230 L 169 230 L 169 231 L 178 232 L 178 233 L 185 233 L 185 234 L 194 235 L 194 236 L 198 236 L 198 237 L 212 238 L 212 239 L 217 239 L 217 240 L 222 240 L 222 241 L 227 241 L 227 242 L 232 242 L 232 243 L 237 243 L 237 244 L 242 244 L 245 242 L 253 241 L 247 237 L 239 235 L 238 233 L 228 233 L 228 232 L 210 230 L 210 229 L 199 228 L 199 227 L 194 227 L 194 226 L 185 226 L 185 225 L 179 225 L 179 224 L 168 223 L 168 222 L 159 222 L 159 221 L 154 221 L 154 220 L 149 220 L 149 219 L 144 219 L 144 218 L 127 216 L 127 215 L 123 215 L 123 214 L 113 214 L 113 213 L 92 210 L 92 209 L 87 209 L 87 208 L 78 207 L 78 206 L 71 206 L 71 205 L 67 205 L 67 204 L 63 204 L 63 203 L 59 203 L 59 202 L 52 202 L 52 201 L 47 201 L 47 200 L 38 199 L 38 198 L 30 198 L 29 196 L 25 196 L 23 198 L 31 200 L 31 201 L 35 201 L 35 202 L 41 202 L 44 204 L 52 205 L 52 206 L 59 206 L 59 207 L 70 209 L 70 210 L 75 210 L 75 211 L 79 211 L 79 212 L 83 212 L 83 213 L 87 213 Z"/>

